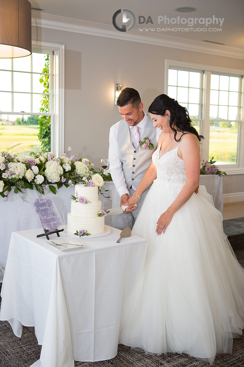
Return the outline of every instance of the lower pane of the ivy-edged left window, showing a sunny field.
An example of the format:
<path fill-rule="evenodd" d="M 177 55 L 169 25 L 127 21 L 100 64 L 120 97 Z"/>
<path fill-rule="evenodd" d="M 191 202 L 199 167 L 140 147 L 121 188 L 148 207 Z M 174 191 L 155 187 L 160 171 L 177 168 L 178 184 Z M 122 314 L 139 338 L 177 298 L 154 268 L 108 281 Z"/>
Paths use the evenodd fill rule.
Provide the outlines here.
<path fill-rule="evenodd" d="M 41 149 L 38 139 L 39 125 L 36 116 L 2 115 L 0 125 L 1 149 L 13 154 L 27 155 Z"/>

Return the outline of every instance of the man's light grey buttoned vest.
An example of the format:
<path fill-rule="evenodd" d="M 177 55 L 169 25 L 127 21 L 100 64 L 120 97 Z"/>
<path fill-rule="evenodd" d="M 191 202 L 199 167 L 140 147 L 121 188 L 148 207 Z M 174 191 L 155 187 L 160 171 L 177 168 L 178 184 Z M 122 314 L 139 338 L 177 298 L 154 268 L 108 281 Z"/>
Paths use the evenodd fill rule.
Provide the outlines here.
<path fill-rule="evenodd" d="M 148 116 L 147 123 L 140 139 L 148 137 L 154 145 L 153 150 L 140 149 L 140 144 L 134 148 L 130 141 L 130 128 L 125 120 L 119 121 L 117 143 L 119 149 L 119 159 L 122 162 L 122 170 L 125 176 L 127 189 L 134 184 L 136 188 L 141 182 L 145 172 L 152 162 L 152 153 L 157 148 L 156 128 L 152 125 L 152 119 Z"/>

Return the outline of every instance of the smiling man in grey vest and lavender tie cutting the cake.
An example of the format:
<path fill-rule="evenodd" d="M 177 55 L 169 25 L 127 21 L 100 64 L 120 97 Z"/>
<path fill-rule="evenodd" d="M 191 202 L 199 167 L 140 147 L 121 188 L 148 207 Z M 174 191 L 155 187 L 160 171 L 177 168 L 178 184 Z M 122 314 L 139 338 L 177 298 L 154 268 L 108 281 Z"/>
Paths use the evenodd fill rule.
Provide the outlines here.
<path fill-rule="evenodd" d="M 122 120 L 110 128 L 108 150 L 109 171 L 116 188 L 112 195 L 113 208 L 124 205 L 137 189 L 152 162 L 152 153 L 157 148 L 161 133 L 159 128 L 153 127 L 151 118 L 144 112 L 140 95 L 135 89 L 122 90 L 117 105 Z M 139 150 L 139 140 L 145 137 L 154 145 L 153 150 Z M 113 227 L 133 227 L 149 188 L 141 195 L 136 210 L 112 216 Z"/>

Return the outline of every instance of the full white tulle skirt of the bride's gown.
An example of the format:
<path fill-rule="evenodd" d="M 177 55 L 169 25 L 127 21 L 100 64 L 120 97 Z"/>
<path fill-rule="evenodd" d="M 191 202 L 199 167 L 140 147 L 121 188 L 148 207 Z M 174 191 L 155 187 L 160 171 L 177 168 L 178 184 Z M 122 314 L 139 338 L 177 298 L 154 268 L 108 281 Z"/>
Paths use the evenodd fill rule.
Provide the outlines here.
<path fill-rule="evenodd" d="M 146 353 L 187 353 L 211 364 L 231 353 L 244 328 L 244 269 L 205 186 L 178 210 L 166 232 L 156 222 L 180 188 L 149 190 L 132 233 L 148 239 L 143 274 L 122 310 L 119 343 Z"/>

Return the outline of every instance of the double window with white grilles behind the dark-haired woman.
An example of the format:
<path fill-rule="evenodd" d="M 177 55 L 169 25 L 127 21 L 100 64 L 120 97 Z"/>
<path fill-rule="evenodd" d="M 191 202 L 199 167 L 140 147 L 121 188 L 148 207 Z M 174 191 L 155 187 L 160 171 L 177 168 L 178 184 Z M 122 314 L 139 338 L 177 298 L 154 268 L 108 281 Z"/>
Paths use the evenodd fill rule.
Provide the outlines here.
<path fill-rule="evenodd" d="M 188 109 L 193 126 L 205 138 L 202 160 L 214 156 L 229 174 L 244 173 L 240 70 L 173 60 L 166 60 L 165 66 L 166 93 Z"/>

